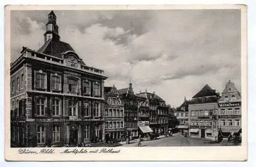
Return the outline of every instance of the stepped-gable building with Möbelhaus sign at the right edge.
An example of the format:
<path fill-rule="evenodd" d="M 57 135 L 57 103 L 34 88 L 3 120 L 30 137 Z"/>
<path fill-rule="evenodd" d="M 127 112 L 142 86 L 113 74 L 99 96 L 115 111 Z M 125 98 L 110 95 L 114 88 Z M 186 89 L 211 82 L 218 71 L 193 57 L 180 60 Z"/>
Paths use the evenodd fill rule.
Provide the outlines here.
<path fill-rule="evenodd" d="M 222 137 L 241 133 L 241 94 L 230 80 L 219 99 L 219 129 Z"/>

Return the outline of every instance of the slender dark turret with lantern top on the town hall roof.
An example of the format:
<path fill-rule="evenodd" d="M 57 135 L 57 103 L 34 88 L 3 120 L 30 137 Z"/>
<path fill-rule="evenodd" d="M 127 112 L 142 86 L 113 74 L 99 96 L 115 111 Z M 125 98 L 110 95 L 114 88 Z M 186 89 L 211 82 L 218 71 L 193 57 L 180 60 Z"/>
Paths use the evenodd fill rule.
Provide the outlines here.
<path fill-rule="evenodd" d="M 59 40 L 58 25 L 56 24 L 56 15 L 53 11 L 48 14 L 48 22 L 46 24 L 45 43 L 49 39 Z"/>

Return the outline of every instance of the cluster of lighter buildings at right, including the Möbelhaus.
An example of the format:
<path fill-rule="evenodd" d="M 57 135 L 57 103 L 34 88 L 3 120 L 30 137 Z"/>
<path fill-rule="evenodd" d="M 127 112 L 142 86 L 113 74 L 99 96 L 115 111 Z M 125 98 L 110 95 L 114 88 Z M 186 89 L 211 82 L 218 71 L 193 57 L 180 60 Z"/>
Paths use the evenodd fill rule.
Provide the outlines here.
<path fill-rule="evenodd" d="M 239 135 L 242 133 L 241 93 L 230 80 L 222 96 L 206 85 L 191 100 L 185 98 L 174 115 L 179 121 L 179 131 L 188 132 L 191 137 L 216 140 L 218 133 L 224 138 Z"/>

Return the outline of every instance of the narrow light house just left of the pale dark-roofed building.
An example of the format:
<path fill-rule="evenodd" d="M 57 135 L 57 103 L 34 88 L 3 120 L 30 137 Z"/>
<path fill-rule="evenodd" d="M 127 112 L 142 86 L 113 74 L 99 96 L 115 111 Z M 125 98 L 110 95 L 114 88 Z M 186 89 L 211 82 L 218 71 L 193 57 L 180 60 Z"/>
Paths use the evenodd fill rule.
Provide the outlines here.
<path fill-rule="evenodd" d="M 176 128 L 178 128 L 178 132 L 182 134 L 184 132 L 188 132 L 188 104 L 189 101 L 184 98 L 184 102 L 177 108 L 174 113 L 179 122 L 179 125 L 177 125 Z"/>

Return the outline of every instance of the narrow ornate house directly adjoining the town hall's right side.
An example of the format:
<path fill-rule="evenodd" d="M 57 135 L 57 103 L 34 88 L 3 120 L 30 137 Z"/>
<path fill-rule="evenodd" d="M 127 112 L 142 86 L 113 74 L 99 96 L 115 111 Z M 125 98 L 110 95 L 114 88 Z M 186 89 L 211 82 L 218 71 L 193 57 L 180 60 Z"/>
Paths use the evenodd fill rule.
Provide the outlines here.
<path fill-rule="evenodd" d="M 120 141 L 125 132 L 124 103 L 115 86 L 104 87 L 105 96 L 105 141 Z"/>

